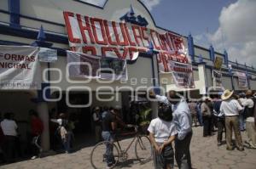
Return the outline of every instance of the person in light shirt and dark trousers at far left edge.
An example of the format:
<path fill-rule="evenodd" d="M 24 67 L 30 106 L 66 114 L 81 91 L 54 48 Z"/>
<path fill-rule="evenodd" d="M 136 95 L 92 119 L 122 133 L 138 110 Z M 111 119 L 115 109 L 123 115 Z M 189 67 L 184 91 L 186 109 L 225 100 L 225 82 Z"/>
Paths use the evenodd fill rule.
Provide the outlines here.
<path fill-rule="evenodd" d="M 5 155 L 5 160 L 7 162 L 13 162 L 15 155 L 15 140 L 17 137 L 16 130 L 18 126 L 16 122 L 11 119 L 10 113 L 6 113 L 4 115 L 4 119 L 1 122 L 1 127 L 4 135 L 3 151 Z"/>

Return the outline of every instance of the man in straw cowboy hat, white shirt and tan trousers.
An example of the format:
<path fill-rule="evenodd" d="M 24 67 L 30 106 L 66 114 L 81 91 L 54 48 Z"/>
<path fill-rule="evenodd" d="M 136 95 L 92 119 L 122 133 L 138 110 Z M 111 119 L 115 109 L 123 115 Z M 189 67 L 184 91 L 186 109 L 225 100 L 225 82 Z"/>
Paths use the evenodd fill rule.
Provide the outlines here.
<path fill-rule="evenodd" d="M 225 127 L 226 127 L 226 142 L 227 149 L 232 150 L 232 130 L 235 132 L 236 138 L 236 147 L 238 150 L 244 150 L 243 144 L 241 141 L 241 132 L 239 128 L 239 113 L 243 108 L 241 104 L 234 99 L 233 96 L 234 91 L 225 90 L 221 95 L 221 99 L 223 100 L 220 105 L 220 111 L 224 113 L 225 116 Z"/>

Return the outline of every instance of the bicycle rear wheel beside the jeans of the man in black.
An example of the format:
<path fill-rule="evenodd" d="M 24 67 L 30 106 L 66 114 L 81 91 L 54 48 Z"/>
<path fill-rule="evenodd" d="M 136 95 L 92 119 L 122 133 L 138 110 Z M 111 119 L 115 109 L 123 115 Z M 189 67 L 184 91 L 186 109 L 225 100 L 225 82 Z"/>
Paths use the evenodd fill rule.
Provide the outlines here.
<path fill-rule="evenodd" d="M 90 164 L 94 169 L 102 169 L 107 166 L 107 147 L 113 146 L 113 168 L 119 161 L 119 149 L 115 144 L 103 141 L 98 144 L 90 152 Z"/>

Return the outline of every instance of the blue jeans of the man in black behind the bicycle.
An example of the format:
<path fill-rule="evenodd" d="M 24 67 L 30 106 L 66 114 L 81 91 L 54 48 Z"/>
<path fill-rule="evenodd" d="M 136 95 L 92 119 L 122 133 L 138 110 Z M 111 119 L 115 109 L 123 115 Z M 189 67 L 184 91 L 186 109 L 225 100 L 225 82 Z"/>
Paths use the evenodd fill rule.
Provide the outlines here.
<path fill-rule="evenodd" d="M 106 145 L 106 153 L 105 153 L 107 164 L 108 166 L 110 166 L 115 163 L 113 158 L 113 134 L 111 132 L 103 131 L 102 138 L 104 139 L 104 141 L 108 141 L 111 143 Z"/>

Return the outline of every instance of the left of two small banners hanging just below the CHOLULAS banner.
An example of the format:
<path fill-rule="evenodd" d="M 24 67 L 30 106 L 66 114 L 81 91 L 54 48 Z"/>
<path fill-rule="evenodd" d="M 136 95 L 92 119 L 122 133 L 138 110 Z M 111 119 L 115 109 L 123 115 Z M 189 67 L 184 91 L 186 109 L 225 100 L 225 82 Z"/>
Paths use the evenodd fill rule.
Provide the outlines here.
<path fill-rule="evenodd" d="M 90 54 L 67 51 L 70 77 L 99 78 L 100 58 Z"/>

